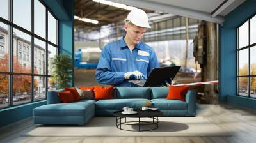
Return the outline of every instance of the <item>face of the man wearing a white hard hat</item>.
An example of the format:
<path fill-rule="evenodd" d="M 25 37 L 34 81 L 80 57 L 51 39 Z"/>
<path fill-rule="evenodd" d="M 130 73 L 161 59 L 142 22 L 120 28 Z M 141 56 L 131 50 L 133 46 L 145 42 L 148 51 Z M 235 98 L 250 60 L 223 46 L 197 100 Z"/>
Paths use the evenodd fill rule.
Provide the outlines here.
<path fill-rule="evenodd" d="M 146 32 L 146 28 L 138 27 L 138 26 L 135 26 L 134 24 L 125 24 L 125 31 L 126 31 L 127 38 L 129 38 L 129 40 L 136 45 L 143 38 Z"/>

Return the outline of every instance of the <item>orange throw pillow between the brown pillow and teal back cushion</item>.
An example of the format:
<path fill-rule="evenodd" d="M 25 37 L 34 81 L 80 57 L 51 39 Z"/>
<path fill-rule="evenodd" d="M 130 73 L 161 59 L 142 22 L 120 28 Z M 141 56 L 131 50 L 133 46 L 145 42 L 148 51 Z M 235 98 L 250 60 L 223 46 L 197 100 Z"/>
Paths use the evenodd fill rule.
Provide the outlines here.
<path fill-rule="evenodd" d="M 94 89 L 94 99 L 95 100 L 104 100 L 104 99 L 113 99 L 113 86 L 101 87 L 95 86 Z"/>

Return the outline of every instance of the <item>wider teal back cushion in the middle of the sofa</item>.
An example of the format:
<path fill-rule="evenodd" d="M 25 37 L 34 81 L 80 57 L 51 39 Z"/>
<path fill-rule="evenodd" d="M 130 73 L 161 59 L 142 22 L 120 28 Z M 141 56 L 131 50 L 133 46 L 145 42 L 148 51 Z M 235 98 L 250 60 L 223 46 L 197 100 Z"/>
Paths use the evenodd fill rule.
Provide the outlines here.
<path fill-rule="evenodd" d="M 117 87 L 114 98 L 144 98 L 150 99 L 150 87 Z"/>

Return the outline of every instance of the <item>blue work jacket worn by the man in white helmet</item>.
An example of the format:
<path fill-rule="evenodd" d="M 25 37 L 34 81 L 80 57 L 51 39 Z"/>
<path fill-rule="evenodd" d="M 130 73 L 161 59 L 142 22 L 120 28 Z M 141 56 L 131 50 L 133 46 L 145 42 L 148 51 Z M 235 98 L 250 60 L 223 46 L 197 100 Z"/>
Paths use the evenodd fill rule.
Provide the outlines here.
<path fill-rule="evenodd" d="M 131 51 L 123 37 L 108 43 L 102 49 L 95 78 L 101 84 L 131 87 L 131 83 L 125 80 L 124 73 L 138 70 L 148 77 L 150 71 L 157 67 L 159 63 L 156 52 L 150 46 L 140 41 Z"/>

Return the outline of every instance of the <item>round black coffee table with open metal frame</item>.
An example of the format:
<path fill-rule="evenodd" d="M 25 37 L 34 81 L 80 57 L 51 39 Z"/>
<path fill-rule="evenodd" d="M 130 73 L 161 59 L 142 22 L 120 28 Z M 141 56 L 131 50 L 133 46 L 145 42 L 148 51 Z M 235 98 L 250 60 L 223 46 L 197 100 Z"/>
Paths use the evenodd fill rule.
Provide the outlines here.
<path fill-rule="evenodd" d="M 158 123 L 159 123 L 159 116 L 163 116 L 163 112 L 159 110 L 138 110 L 137 114 L 122 114 L 121 111 L 116 111 L 114 112 L 114 116 L 116 116 L 116 127 L 119 128 L 120 130 L 126 130 L 122 128 L 122 125 L 131 125 L 131 126 L 138 126 L 139 130 L 127 130 L 127 131 L 150 131 L 158 128 Z M 138 121 L 126 121 L 127 117 L 131 118 L 138 118 Z M 152 121 L 141 121 L 141 118 L 151 118 Z M 124 122 L 122 122 L 122 119 L 125 119 Z M 132 123 L 138 123 L 138 124 L 132 124 Z M 141 126 L 148 126 L 148 125 L 154 125 L 153 128 L 150 128 L 148 130 L 141 130 Z"/>

